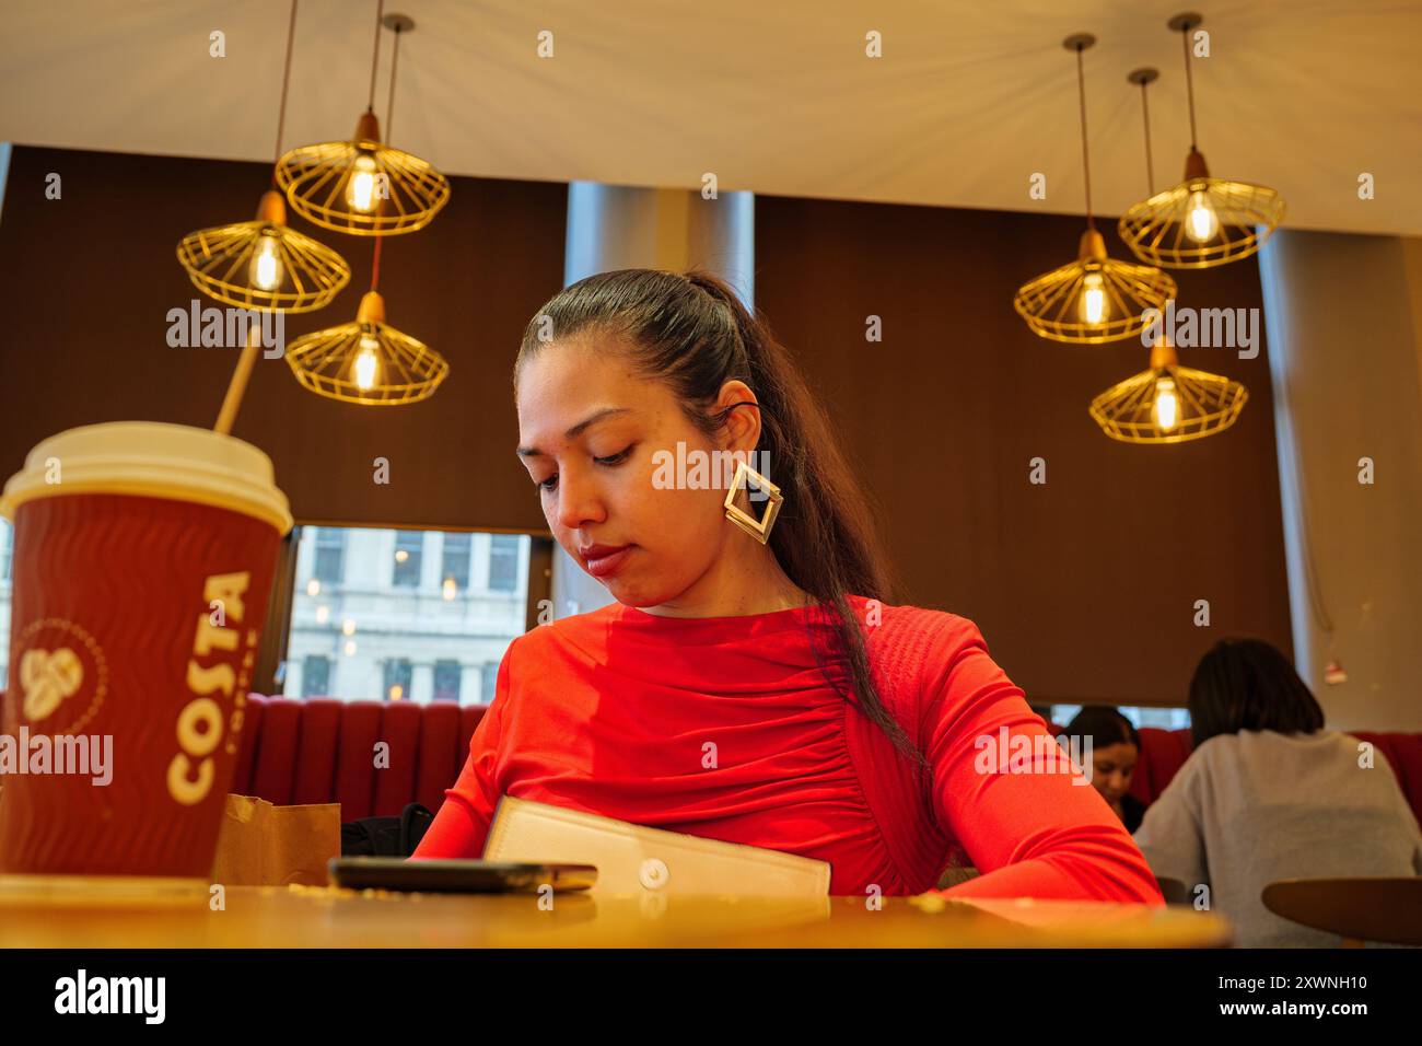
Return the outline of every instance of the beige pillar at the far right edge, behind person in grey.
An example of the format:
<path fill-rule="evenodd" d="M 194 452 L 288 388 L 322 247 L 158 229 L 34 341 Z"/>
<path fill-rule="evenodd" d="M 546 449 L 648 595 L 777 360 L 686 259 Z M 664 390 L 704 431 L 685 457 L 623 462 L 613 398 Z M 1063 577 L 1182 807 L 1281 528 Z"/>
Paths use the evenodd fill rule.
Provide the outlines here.
<path fill-rule="evenodd" d="M 1422 248 L 1284 229 L 1258 258 L 1295 666 L 1331 727 L 1422 729 Z"/>

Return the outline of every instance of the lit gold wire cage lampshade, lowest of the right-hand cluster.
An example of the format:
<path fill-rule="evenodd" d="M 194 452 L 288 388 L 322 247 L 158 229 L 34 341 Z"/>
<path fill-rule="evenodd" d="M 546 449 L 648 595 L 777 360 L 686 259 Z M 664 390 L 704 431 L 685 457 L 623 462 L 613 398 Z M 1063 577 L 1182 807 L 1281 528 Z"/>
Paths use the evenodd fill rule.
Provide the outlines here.
<path fill-rule="evenodd" d="M 1122 443 L 1186 443 L 1223 433 L 1239 420 L 1249 390 L 1220 374 L 1182 367 L 1162 339 L 1150 369 L 1128 377 L 1091 401 L 1101 431 Z"/>

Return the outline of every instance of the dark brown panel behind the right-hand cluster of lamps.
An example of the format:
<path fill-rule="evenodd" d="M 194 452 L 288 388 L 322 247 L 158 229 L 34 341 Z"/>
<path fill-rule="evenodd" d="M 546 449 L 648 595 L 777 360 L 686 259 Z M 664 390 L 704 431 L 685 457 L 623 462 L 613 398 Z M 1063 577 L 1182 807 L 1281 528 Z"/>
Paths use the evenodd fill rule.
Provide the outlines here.
<path fill-rule="evenodd" d="M 1180 350 L 1246 384 L 1240 421 L 1128 445 L 1086 404 L 1145 370 L 1139 339 L 1047 342 L 1012 310 L 1018 285 L 1074 258 L 1081 219 L 759 196 L 755 222 L 757 305 L 826 397 L 907 602 L 973 618 L 1034 702 L 1183 702 L 1224 635 L 1291 652 L 1261 312 L 1253 360 Z M 1173 275 L 1182 306 L 1261 310 L 1254 259 Z"/>

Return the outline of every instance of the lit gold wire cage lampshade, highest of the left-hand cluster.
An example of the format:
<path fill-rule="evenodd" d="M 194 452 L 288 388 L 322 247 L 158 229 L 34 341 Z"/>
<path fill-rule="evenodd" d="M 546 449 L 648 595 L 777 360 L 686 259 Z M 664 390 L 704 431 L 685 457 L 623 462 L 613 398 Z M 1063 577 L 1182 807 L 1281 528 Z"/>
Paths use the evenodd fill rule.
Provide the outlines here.
<path fill-rule="evenodd" d="M 449 201 L 449 179 L 428 161 L 383 145 L 371 111 L 361 114 L 351 141 L 283 155 L 276 181 L 299 215 L 356 236 L 422 229 Z"/>

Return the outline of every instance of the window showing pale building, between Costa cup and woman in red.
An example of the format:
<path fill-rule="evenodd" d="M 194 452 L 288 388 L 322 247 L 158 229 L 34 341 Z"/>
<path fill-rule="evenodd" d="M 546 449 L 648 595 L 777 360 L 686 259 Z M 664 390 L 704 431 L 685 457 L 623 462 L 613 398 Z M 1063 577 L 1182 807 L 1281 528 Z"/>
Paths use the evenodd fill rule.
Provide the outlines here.
<path fill-rule="evenodd" d="M 438 535 L 435 544 L 427 545 L 431 535 Z M 483 583 L 495 537 L 506 546 L 505 562 L 515 569 L 508 591 L 489 591 Z M 387 702 L 390 687 L 400 686 L 400 700 L 479 704 L 493 697 L 493 676 L 482 669 L 489 663 L 489 673 L 495 672 L 509 643 L 528 628 L 533 538 L 306 527 L 297 541 L 303 548 L 297 569 L 306 572 L 297 574 L 292 585 L 284 652 L 290 670 L 283 686 L 287 696 Z M 317 566 L 317 548 L 333 554 L 340 549 L 338 583 L 316 576 L 323 569 Z M 404 552 L 404 562 L 392 561 L 391 549 Z M 539 585 L 546 583 L 539 578 Z M 3 599 L 0 583 L 0 625 Z M 4 653 L 0 643 L 0 657 Z M 311 657 L 321 659 L 321 667 L 303 670 Z"/>

